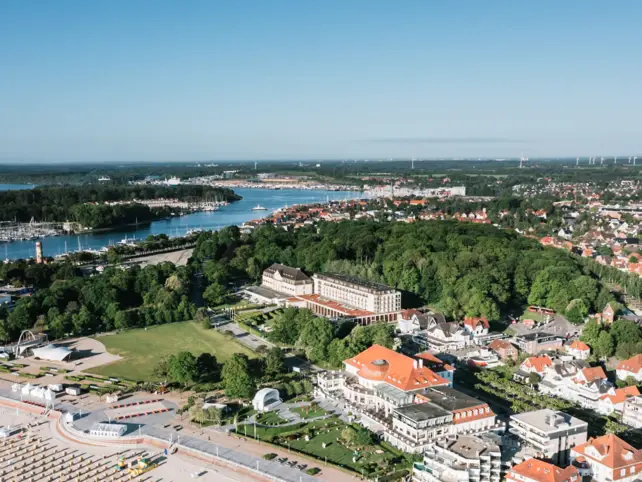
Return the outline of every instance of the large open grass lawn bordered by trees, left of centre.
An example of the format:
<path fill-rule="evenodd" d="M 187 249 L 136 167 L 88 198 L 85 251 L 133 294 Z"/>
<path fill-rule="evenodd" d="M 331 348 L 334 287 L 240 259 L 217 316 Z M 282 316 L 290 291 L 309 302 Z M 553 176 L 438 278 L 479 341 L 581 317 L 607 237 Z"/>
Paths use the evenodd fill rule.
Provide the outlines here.
<path fill-rule="evenodd" d="M 218 362 L 225 362 L 234 353 L 245 353 L 254 358 L 254 352 L 226 339 L 216 330 L 205 330 L 198 323 L 171 323 L 151 328 L 129 330 L 117 335 L 97 338 L 109 353 L 124 359 L 88 370 L 97 375 L 129 380 L 154 380 L 153 371 L 158 361 L 179 351 L 198 356 L 211 353 Z"/>

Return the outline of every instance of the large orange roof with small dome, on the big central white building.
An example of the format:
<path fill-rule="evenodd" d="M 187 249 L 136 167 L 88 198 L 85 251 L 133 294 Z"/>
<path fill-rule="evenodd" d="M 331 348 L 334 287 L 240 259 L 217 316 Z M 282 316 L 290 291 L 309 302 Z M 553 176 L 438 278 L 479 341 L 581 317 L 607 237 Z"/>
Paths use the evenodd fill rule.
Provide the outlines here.
<path fill-rule="evenodd" d="M 381 345 L 372 345 L 343 363 L 357 368 L 357 374 L 362 378 L 386 382 L 404 391 L 445 386 L 449 383 L 429 368 L 419 366 L 417 360 Z"/>

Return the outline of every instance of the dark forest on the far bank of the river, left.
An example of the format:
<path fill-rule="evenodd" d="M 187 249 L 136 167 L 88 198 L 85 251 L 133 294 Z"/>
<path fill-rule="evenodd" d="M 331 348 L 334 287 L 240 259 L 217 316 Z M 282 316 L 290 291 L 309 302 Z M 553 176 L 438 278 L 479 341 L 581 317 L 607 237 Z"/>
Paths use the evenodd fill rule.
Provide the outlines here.
<path fill-rule="evenodd" d="M 106 205 L 110 201 L 177 198 L 182 201 L 236 201 L 230 189 L 208 186 L 126 186 L 93 184 L 76 187 L 46 187 L 0 192 L 0 221 L 77 221 L 100 228 L 116 224 L 151 221 L 166 216 L 141 204 Z M 98 204 L 87 204 L 98 203 Z"/>

